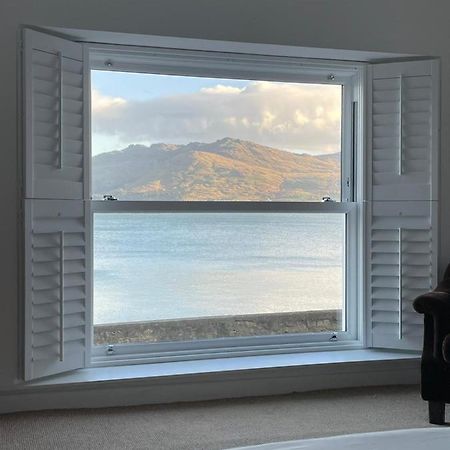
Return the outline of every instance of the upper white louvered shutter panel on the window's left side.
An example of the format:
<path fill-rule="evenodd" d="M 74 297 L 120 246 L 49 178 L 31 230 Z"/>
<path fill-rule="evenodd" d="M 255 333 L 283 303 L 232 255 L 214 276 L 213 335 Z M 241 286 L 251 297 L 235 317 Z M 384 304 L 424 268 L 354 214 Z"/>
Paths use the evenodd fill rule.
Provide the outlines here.
<path fill-rule="evenodd" d="M 82 199 L 83 47 L 24 30 L 25 197 Z"/>

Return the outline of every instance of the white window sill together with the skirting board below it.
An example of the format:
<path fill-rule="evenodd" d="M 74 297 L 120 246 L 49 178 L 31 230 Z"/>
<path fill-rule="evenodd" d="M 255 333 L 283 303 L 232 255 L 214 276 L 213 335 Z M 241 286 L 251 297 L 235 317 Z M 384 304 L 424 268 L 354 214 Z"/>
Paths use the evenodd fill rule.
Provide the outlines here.
<path fill-rule="evenodd" d="M 419 356 L 354 349 L 91 367 L 0 391 L 0 414 L 417 385 Z"/>

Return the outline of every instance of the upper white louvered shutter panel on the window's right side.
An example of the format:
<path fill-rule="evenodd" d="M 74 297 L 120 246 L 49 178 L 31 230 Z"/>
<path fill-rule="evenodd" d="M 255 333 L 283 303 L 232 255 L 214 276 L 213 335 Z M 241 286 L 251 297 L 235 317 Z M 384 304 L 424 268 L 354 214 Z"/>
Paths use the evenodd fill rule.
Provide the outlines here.
<path fill-rule="evenodd" d="M 436 62 L 377 64 L 371 83 L 371 199 L 437 200 Z"/>

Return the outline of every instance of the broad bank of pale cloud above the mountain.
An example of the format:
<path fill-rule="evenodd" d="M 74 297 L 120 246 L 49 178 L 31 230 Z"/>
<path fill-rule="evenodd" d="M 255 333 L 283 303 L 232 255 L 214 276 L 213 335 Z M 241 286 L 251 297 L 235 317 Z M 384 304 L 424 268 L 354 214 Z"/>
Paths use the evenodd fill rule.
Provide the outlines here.
<path fill-rule="evenodd" d="M 339 150 L 341 91 L 328 85 L 250 82 L 145 101 L 92 95 L 93 130 L 123 143 L 235 137 L 289 150 Z"/>

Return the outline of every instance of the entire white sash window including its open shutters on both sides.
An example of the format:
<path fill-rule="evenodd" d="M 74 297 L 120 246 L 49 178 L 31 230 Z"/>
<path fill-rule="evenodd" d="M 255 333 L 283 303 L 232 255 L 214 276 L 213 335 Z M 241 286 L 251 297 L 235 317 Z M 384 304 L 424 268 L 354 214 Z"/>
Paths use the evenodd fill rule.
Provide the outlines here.
<path fill-rule="evenodd" d="M 418 348 L 436 61 L 24 38 L 25 379 Z"/>

